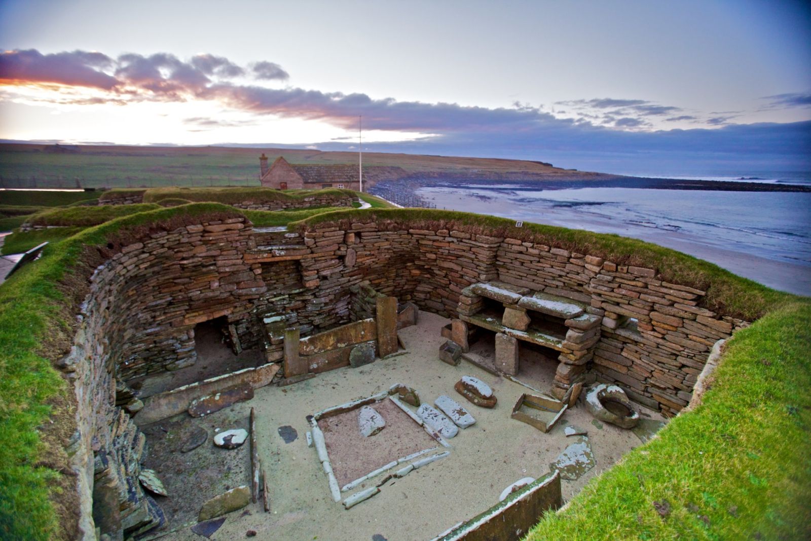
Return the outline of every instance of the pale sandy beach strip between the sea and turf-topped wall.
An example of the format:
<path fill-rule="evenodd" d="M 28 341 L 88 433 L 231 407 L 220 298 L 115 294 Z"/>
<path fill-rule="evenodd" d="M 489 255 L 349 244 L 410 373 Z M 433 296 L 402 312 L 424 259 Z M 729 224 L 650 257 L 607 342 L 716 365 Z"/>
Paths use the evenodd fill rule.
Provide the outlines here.
<path fill-rule="evenodd" d="M 448 192 L 436 188 L 423 188 L 418 194 L 423 200 L 436 203 L 437 208 L 459 210 L 469 213 L 490 214 L 513 220 L 531 221 L 544 225 L 557 225 L 569 229 L 594 231 L 594 233 L 619 234 L 624 237 L 637 238 L 648 243 L 672 248 L 698 259 L 709 261 L 740 277 L 757 281 L 775 290 L 798 295 L 811 296 L 811 266 L 792 264 L 787 261 L 773 260 L 761 255 L 742 251 L 713 247 L 702 238 L 681 231 L 647 230 L 644 227 L 633 227 L 626 223 L 611 223 L 584 213 L 573 215 L 564 210 L 549 211 L 526 217 L 526 210 L 516 207 L 507 200 L 491 198 L 483 200 L 464 191 Z"/>

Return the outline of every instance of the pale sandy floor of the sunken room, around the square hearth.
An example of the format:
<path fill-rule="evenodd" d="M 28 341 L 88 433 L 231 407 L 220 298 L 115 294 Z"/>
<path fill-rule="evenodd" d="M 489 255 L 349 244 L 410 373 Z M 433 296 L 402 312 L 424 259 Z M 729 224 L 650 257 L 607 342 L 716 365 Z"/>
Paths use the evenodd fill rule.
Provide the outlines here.
<path fill-rule="evenodd" d="M 440 328 L 447 323 L 440 316 L 421 313 L 418 326 L 400 332 L 408 354 L 361 368 L 325 372 L 284 388 L 258 389 L 253 400 L 208 416 L 206 423 L 217 425 L 221 424 L 220 417 L 243 418 L 251 406 L 255 407 L 260 458 L 267 470 L 272 500 L 271 513 L 262 512 L 260 505 L 249 505 L 250 513 L 232 513 L 210 539 L 242 539 L 247 530 L 258 532 L 255 539 L 431 539 L 496 504 L 504 487 L 517 479 L 546 474 L 549 463 L 572 442 L 563 433 L 567 422 L 589 431 L 597 461 L 594 469 L 580 479 L 563 482 L 567 499 L 595 474 L 641 444 L 633 432 L 611 425 L 595 427 L 585 406 L 569 410 L 548 434 L 510 419 L 513 405 L 527 389 L 470 363 L 458 367 L 442 363 L 437 350 L 444 341 Z M 547 376 L 554 369 L 550 366 Z M 499 399 L 494 409 L 474 406 L 453 390 L 453 384 L 465 375 L 491 385 Z M 410 384 L 423 401 L 430 403 L 440 394 L 453 397 L 470 410 L 477 423 L 449 440 L 453 445 L 449 457 L 390 481 L 381 487 L 380 494 L 347 511 L 333 502 L 315 449 L 307 448 L 306 416 L 379 393 L 397 382 Z M 639 409 L 661 419 L 658 414 Z M 298 432 L 298 438 L 290 443 L 285 443 L 278 433 L 278 428 L 285 425 Z M 361 485 L 357 490 L 368 486 Z M 196 541 L 200 537 L 186 529 L 165 539 Z"/>

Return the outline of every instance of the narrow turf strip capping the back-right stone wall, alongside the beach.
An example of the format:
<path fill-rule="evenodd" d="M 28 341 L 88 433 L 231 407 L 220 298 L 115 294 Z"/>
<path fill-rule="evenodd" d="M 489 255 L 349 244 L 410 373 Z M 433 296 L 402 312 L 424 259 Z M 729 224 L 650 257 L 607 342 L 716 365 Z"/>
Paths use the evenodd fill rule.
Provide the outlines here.
<path fill-rule="evenodd" d="M 347 227 L 355 220 L 375 221 L 379 227 L 393 229 L 457 229 L 474 234 L 512 237 L 596 255 L 620 265 L 654 268 L 665 281 L 689 284 L 706 290 L 703 306 L 710 310 L 748 321 L 762 316 L 775 303 L 792 297 L 736 276 L 718 265 L 634 238 L 529 222 L 524 222 L 523 227 L 517 228 L 513 220 L 481 214 L 427 208 L 370 208 L 321 214 L 306 221 L 291 223 L 290 228 L 322 222 L 335 222 L 336 225 Z"/>

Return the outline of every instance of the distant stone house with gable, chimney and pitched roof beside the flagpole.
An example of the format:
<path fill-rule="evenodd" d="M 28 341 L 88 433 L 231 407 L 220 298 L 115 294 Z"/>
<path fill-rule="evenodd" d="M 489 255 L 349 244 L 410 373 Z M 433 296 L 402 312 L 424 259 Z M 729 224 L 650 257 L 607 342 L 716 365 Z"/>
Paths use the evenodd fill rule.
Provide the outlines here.
<path fill-rule="evenodd" d="M 292 165 L 285 158 L 278 157 L 268 168 L 268 157 L 264 153 L 259 162 L 264 187 L 277 190 L 360 190 L 357 165 Z"/>

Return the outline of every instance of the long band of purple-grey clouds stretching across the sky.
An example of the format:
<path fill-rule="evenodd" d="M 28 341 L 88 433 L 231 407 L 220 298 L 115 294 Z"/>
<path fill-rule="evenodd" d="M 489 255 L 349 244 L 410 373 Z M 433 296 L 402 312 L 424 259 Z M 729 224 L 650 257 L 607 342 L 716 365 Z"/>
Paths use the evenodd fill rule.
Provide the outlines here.
<path fill-rule="evenodd" d="M 123 54 L 111 58 L 96 52 L 41 54 L 36 49 L 0 54 L 0 82 L 61 84 L 94 88 L 102 97 L 77 98 L 79 104 L 135 101 L 217 101 L 230 109 L 253 114 L 305 118 L 354 129 L 363 115 L 367 130 L 414 131 L 427 134 L 418 140 L 364 145 L 388 152 L 443 153 L 466 156 L 559 159 L 560 165 L 603 167 L 611 163 L 637 165 L 657 161 L 693 164 L 729 164 L 767 169 L 811 168 L 811 122 L 729 123 L 732 117 L 706 119 L 717 129 L 642 131 L 646 118 L 667 115 L 667 120 L 689 120 L 682 109 L 646 100 L 599 98 L 560 102 L 577 110 L 598 110 L 592 122 L 584 118 L 556 118 L 527 105 L 484 108 L 453 103 L 372 99 L 366 94 L 321 92 L 303 88 L 268 88 L 251 83 L 284 82 L 287 72 L 273 62 L 240 67 L 227 58 L 201 54 L 182 61 L 172 54 Z M 803 106 L 806 94 L 769 97 L 770 106 Z M 62 103 L 64 101 L 61 101 Z M 608 125 L 605 118 L 609 118 Z M 187 119 L 197 129 L 238 123 L 216 119 Z M 616 129 L 617 127 L 628 130 Z M 315 141 L 314 141 L 315 142 Z M 258 141 L 257 143 L 265 143 Z M 339 141 L 320 144 L 344 149 Z M 574 164 L 574 165 L 573 165 Z M 594 165 L 591 165 L 594 164 Z M 603 164 L 603 165 L 600 165 Z M 609 167 L 610 168 L 610 167 Z"/>

